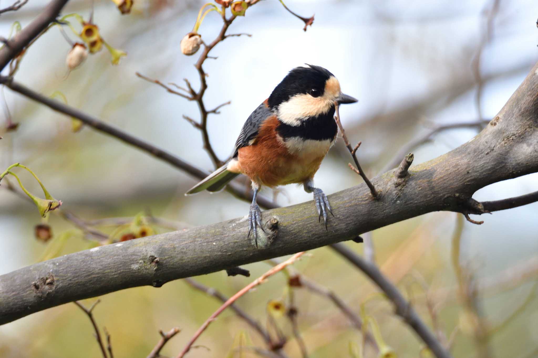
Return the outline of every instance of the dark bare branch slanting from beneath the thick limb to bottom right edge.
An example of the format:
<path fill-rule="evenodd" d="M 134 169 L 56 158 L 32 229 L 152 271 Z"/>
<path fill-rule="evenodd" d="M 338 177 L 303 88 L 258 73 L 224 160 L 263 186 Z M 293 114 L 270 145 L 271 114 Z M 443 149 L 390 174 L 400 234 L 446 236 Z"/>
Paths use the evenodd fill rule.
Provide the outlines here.
<path fill-rule="evenodd" d="M 367 262 L 359 255 L 356 255 L 345 245 L 333 245 L 332 249 L 337 250 L 341 255 L 346 257 L 349 262 L 355 265 L 360 271 L 364 272 L 370 279 L 377 284 L 377 286 L 384 291 L 388 299 L 394 304 L 396 313 L 409 325 L 413 330 L 422 338 L 424 343 L 428 345 L 431 352 L 435 354 L 437 358 L 450 358 L 451 355 L 443 347 L 440 341 L 437 340 L 435 335 L 431 333 L 429 328 L 422 322 L 419 315 L 415 312 L 413 307 L 406 301 L 404 296 L 400 294 L 398 288 L 396 288 L 388 279 L 379 271 L 376 265 Z"/>

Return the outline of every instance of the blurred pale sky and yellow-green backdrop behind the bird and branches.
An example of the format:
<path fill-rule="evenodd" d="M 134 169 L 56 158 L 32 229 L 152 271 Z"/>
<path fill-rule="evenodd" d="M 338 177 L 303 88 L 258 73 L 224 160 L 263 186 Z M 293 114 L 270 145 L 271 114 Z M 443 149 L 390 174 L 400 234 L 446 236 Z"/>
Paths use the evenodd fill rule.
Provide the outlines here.
<path fill-rule="evenodd" d="M 29 24 L 46 3 L 31 0 L 16 12 L 2 14 L 0 34 L 7 37 L 15 20 L 23 27 Z M 182 55 L 180 41 L 192 30 L 203 4 L 198 0 L 135 0 L 131 13 L 121 16 L 112 1 L 97 0 L 94 23 L 111 46 L 125 50 L 128 56 L 111 65 L 110 55 L 103 49 L 69 74 L 65 59 L 70 45 L 54 27 L 28 50 L 16 78 L 47 96 L 61 91 L 69 105 L 211 170 L 213 164 L 202 148 L 200 131 L 182 118 L 185 114 L 199 120 L 196 103 L 135 75 L 138 71 L 180 85 L 188 78 L 198 88 L 193 64 L 201 52 Z M 2 2 L 0 8 L 9 5 Z M 313 26 L 303 32 L 304 24 L 277 0 L 260 1 L 229 30 L 252 37 L 226 39 L 211 52 L 218 59 L 204 64 L 207 107 L 231 100 L 208 122 L 211 144 L 221 159 L 230 154 L 253 109 L 288 70 L 305 62 L 329 69 L 344 93 L 360 100 L 341 108 L 342 122 L 352 142 L 362 141 L 359 161 L 373 177 L 396 166 L 408 151 L 414 152 L 415 163 L 422 163 L 469 141 L 482 128 L 483 120 L 501 109 L 538 60 L 538 3 L 534 0 L 288 0 L 286 5 L 305 17 L 315 13 Z M 63 14 L 76 12 L 88 19 L 90 9 L 90 2 L 73 0 Z M 211 12 L 199 33 L 210 42 L 221 27 L 222 19 Z M 61 209 L 86 221 L 115 218 L 94 227 L 113 240 L 129 232 L 131 218 L 140 213 L 162 219 L 161 226 L 149 225 L 154 232 L 247 213 L 249 203 L 226 192 L 185 197 L 183 193 L 197 179 L 91 128 L 73 133 L 67 116 L 9 89 L 0 92 L 5 98 L 0 101 L 4 107 L 0 171 L 23 163 L 63 201 Z M 12 123 L 19 125 L 8 130 Z M 349 152 L 338 141 L 316 174 L 316 186 L 331 194 L 360 184 L 362 180 L 349 170 L 348 162 Z M 17 173 L 26 188 L 39 192 L 28 173 Z M 6 179 L 16 184 L 12 178 Z M 500 182 L 473 197 L 498 200 L 533 192 L 538 189 L 537 179 L 537 174 L 531 174 Z M 49 214 L 52 238 L 38 240 L 34 227 L 41 218 L 36 207 L 6 184 L 3 181 L 0 186 L 0 274 L 104 242 L 84 234 L 58 212 Z M 265 189 L 262 194 L 275 198 L 281 206 L 312 200 L 295 186 L 277 193 Z M 380 268 L 413 302 L 424 321 L 435 324 L 447 342 L 452 338 L 455 357 L 484 356 L 484 352 L 494 357 L 535 357 L 537 217 L 538 203 L 480 217 L 483 225 L 463 221 L 455 213 L 431 213 L 367 233 L 365 238 L 372 240 Z M 461 242 L 459 268 L 465 272 L 465 282 L 478 287 L 474 311 L 472 300 L 458 295 L 462 282 L 456 279 L 451 259 L 455 241 Z M 363 254 L 363 244 L 346 245 Z M 230 296 L 267 271 L 270 264 L 259 262 L 245 268 L 251 271 L 250 278 L 218 272 L 195 280 Z M 423 345 L 414 332 L 376 295 L 377 288 L 335 252 L 328 248 L 310 251 L 294 269 L 334 291 L 357 315 L 364 304 L 386 344 L 399 357 L 420 355 Z M 361 335 L 342 311 L 327 297 L 304 288 L 293 291 L 308 356 L 353 356 L 350 342 L 360 345 Z M 270 300 L 287 305 L 289 294 L 286 276 L 278 274 L 237 304 L 264 327 L 274 321 L 271 327 L 278 326 L 288 337 L 284 352 L 300 357 L 289 320 L 267 310 Z M 95 299 L 83 301 L 87 306 L 93 302 Z M 220 304 L 179 280 L 159 289 L 133 288 L 102 296 L 94 315 L 97 324 L 110 333 L 116 357 L 145 357 L 159 340 L 159 329 L 179 327 L 181 332 L 162 351 L 165 356 L 175 356 Z M 428 309 L 432 305 L 433 315 Z M 478 326 L 485 327 L 485 335 L 477 332 Z M 225 311 L 196 342 L 202 347 L 188 356 L 239 356 L 238 337 L 245 336 L 248 345 L 265 346 L 249 325 Z M 242 354 L 256 356 L 250 350 Z M 365 352 L 365 356 L 373 354 Z M 0 326 L 0 356 L 97 357 L 101 352 L 88 317 L 70 303 Z"/>

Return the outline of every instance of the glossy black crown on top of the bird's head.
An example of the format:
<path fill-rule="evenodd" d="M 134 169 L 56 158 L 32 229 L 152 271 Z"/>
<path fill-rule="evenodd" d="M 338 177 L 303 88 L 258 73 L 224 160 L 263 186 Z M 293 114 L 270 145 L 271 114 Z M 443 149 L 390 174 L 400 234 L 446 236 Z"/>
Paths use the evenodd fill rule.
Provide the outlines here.
<path fill-rule="evenodd" d="M 325 82 L 334 76 L 320 66 L 307 64 L 308 67 L 296 67 L 282 79 L 271 93 L 268 105 L 271 109 L 286 102 L 295 94 L 309 93 L 313 97 L 323 96 Z"/>

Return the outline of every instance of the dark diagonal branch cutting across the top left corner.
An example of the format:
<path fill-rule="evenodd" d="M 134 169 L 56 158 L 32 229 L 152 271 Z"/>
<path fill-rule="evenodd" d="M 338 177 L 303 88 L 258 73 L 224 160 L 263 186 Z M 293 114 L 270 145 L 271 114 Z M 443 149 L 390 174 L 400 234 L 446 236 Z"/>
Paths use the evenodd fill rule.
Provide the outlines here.
<path fill-rule="evenodd" d="M 63 6 L 69 0 L 52 0 L 46 8 L 41 11 L 39 16 L 34 19 L 29 25 L 23 28 L 13 40 L 8 40 L 6 46 L 0 50 L 0 71 L 33 40 L 47 26 L 58 17 Z"/>

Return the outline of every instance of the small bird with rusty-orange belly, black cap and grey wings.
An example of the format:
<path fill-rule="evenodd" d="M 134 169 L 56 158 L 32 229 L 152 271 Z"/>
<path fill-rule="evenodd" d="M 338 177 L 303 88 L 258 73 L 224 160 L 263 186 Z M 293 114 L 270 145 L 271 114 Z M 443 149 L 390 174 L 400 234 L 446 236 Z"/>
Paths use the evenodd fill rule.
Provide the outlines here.
<path fill-rule="evenodd" d="M 260 188 L 302 184 L 313 193 L 318 221 L 323 216 L 327 229 L 327 211 L 332 214 L 332 208 L 327 195 L 314 186 L 314 174 L 336 140 L 335 102 L 357 101 L 343 94 L 338 79 L 323 67 L 306 64 L 292 69 L 246 120 L 231 159 L 185 195 L 218 192 L 245 174 L 253 189 L 247 238 L 253 232 L 257 246 L 258 228 L 265 231 L 256 202 Z"/>

